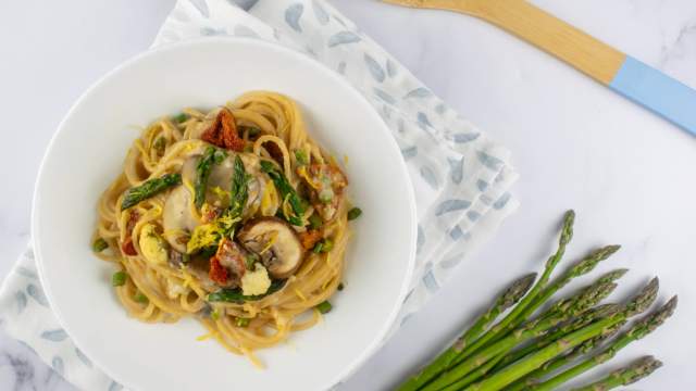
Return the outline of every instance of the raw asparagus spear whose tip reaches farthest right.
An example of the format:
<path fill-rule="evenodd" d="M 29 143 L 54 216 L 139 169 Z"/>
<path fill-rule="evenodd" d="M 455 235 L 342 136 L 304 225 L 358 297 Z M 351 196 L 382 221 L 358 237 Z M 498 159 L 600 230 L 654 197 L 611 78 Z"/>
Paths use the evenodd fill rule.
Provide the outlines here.
<path fill-rule="evenodd" d="M 673 297 L 668 301 L 662 307 L 649 314 L 648 316 L 641 319 L 636 323 L 629 331 L 619 337 L 616 341 L 613 341 L 609 346 L 607 346 L 600 353 L 595 354 L 594 356 L 583 361 L 582 363 L 573 366 L 572 368 L 550 378 L 549 380 L 534 387 L 534 390 L 554 390 L 558 386 L 567 382 L 568 380 L 600 365 L 602 363 L 611 360 L 617 352 L 621 349 L 625 348 L 633 341 L 637 341 L 645 336 L 652 332 L 655 329 L 660 327 L 672 314 L 674 313 L 674 308 L 676 307 L 678 299 Z"/>

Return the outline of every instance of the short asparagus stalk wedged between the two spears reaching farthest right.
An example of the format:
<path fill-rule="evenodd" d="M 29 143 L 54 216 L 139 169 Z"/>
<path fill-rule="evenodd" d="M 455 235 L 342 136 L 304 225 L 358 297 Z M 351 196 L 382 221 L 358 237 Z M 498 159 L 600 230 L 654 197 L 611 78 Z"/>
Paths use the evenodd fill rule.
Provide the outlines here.
<path fill-rule="evenodd" d="M 575 360 L 582 357 L 583 355 L 589 353 L 599 346 L 604 341 L 613 337 L 622 327 L 625 325 L 625 320 L 616 324 L 614 326 L 608 328 L 605 332 L 599 336 L 592 338 L 582 344 L 575 346 L 573 350 L 568 352 L 566 355 L 558 356 L 551 361 L 546 362 L 539 368 L 524 376 L 523 378 L 517 380 L 514 383 L 508 386 L 506 388 L 507 391 L 520 391 L 526 390 L 527 388 L 538 384 L 539 380 L 546 377 L 549 374 L 555 373 L 556 370 L 564 367 L 566 365 L 574 362 Z"/>

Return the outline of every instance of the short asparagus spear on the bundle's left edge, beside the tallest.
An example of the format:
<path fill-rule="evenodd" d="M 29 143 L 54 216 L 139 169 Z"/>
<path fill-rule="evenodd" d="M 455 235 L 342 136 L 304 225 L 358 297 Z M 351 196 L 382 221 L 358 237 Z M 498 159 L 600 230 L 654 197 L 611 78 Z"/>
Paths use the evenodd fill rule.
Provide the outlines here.
<path fill-rule="evenodd" d="M 427 380 L 433 379 L 439 373 L 449 367 L 450 363 L 469 343 L 474 341 L 485 329 L 494 321 L 498 315 L 511 307 L 524 297 L 530 290 L 536 273 L 529 274 L 517 280 L 514 280 L 495 301 L 493 306 L 486 311 L 483 315 L 474 321 L 473 326 L 467 330 L 458 340 L 447 349 L 443 354 L 437 356 L 433 363 L 423 368 L 418 375 L 414 375 L 406 382 L 403 382 L 400 390 L 418 390 L 421 386 L 425 384 Z"/>

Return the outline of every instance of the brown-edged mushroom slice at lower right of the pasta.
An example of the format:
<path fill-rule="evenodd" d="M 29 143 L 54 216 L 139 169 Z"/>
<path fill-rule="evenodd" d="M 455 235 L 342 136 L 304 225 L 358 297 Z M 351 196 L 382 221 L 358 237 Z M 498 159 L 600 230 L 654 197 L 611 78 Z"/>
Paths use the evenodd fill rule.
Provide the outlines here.
<path fill-rule="evenodd" d="M 304 250 L 289 224 L 277 217 L 247 222 L 237 235 L 241 245 L 259 255 L 273 278 L 287 278 L 300 267 Z"/>

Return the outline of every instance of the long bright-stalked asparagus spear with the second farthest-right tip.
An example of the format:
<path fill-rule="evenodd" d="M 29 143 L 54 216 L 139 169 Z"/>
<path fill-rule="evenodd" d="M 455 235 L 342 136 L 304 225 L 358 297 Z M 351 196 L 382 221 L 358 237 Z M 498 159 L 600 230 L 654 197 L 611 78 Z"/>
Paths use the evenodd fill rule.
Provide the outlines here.
<path fill-rule="evenodd" d="M 469 388 L 467 388 L 467 390 L 492 391 L 502 389 L 504 387 L 514 382 L 526 374 L 540 367 L 544 363 L 556 357 L 557 355 L 605 332 L 608 327 L 612 327 L 613 325 L 623 321 L 629 317 L 646 311 L 655 301 L 658 289 L 658 279 L 654 278 L 622 308 L 621 312 L 598 320 L 575 332 L 572 332 L 566 338 L 562 338 L 561 340 L 533 354 L 527 355 L 526 357 L 524 357 L 524 360 L 521 360 L 506 367 L 505 369 L 494 374 L 483 381 L 470 386 Z"/>

